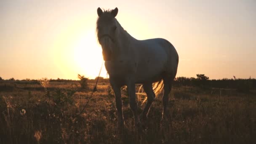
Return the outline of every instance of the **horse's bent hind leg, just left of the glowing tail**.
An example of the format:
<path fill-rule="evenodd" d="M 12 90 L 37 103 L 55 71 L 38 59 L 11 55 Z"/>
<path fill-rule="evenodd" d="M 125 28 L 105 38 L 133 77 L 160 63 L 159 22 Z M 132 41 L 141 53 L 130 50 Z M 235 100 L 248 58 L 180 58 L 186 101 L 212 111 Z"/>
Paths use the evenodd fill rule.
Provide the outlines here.
<path fill-rule="evenodd" d="M 143 89 L 147 93 L 147 104 L 141 113 L 141 120 L 145 121 L 147 119 L 147 114 L 149 112 L 150 106 L 155 99 L 155 93 L 152 88 L 152 83 L 144 83 Z"/>

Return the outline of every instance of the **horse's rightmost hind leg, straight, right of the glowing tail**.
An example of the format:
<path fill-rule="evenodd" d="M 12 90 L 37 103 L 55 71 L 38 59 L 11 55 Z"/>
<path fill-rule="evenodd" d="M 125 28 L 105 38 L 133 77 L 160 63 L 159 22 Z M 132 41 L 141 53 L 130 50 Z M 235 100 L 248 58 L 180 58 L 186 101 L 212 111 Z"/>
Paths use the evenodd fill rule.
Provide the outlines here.
<path fill-rule="evenodd" d="M 163 93 L 163 97 L 162 97 L 162 101 L 163 101 L 163 117 L 162 117 L 162 119 L 167 118 L 167 116 L 168 116 L 169 93 L 171 92 L 172 81 L 173 81 L 173 79 L 171 79 L 171 78 L 163 78 L 164 93 Z"/>

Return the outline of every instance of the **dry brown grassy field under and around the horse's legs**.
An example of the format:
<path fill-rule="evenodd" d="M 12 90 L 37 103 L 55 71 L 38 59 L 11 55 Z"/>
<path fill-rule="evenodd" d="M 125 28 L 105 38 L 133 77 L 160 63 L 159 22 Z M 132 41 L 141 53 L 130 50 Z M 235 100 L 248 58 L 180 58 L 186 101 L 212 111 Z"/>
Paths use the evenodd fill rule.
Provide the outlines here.
<path fill-rule="evenodd" d="M 93 87 L 91 83 L 90 88 Z M 253 144 L 256 92 L 174 86 L 168 125 L 161 126 L 161 96 L 142 132 L 135 131 L 127 92 L 122 92 L 126 130 L 117 131 L 115 96 L 109 83 L 83 91 L 78 82 L 0 80 L 1 144 Z M 138 95 L 139 112 L 144 95 Z M 86 107 L 83 112 L 84 105 Z"/>

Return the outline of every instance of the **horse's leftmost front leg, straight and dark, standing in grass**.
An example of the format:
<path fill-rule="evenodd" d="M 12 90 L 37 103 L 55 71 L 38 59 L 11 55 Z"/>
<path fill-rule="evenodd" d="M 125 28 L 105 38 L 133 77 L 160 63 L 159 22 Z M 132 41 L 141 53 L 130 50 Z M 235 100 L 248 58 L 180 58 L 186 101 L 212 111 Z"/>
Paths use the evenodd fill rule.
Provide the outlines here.
<path fill-rule="evenodd" d="M 118 129 L 119 131 L 123 131 L 124 128 L 124 122 L 123 122 L 123 110 L 122 110 L 122 99 L 121 99 L 121 91 L 120 91 L 120 85 L 117 85 L 115 81 L 110 79 L 110 84 L 114 90 L 115 93 L 115 105 L 117 108 L 117 116 L 118 116 Z"/>

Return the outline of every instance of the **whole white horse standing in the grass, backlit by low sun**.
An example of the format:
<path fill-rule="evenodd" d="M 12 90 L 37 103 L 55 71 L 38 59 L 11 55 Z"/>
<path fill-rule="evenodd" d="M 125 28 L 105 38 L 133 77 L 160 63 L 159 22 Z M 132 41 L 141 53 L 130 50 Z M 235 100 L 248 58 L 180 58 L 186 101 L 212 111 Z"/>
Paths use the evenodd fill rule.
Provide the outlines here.
<path fill-rule="evenodd" d="M 115 19 L 117 12 L 117 8 L 107 11 L 98 8 L 96 32 L 109 74 L 109 82 L 115 92 L 118 128 L 122 129 L 124 126 L 120 91 L 124 85 L 128 88 L 130 107 L 136 127 L 140 127 L 140 120 L 146 120 L 149 108 L 155 99 L 152 83 L 163 81 L 162 119 L 168 115 L 168 95 L 177 73 L 179 56 L 168 40 L 162 38 L 136 40 Z M 137 112 L 136 83 L 142 84 L 147 93 L 147 104 L 140 119 Z"/>

